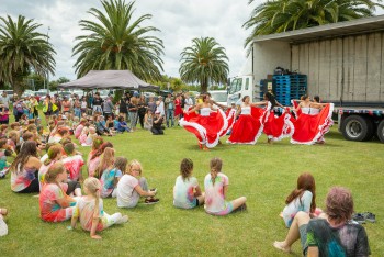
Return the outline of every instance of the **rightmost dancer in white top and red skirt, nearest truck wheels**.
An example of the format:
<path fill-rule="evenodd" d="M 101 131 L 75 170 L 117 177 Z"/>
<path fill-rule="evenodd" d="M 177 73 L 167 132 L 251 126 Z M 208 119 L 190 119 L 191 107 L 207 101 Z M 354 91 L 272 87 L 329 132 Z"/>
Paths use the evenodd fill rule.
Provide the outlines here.
<path fill-rule="evenodd" d="M 324 135 L 334 124 L 334 103 L 310 102 L 308 96 L 303 97 L 303 101 L 296 108 L 302 113 L 294 121 L 295 131 L 292 135 L 292 144 L 313 145 L 324 143 Z"/>

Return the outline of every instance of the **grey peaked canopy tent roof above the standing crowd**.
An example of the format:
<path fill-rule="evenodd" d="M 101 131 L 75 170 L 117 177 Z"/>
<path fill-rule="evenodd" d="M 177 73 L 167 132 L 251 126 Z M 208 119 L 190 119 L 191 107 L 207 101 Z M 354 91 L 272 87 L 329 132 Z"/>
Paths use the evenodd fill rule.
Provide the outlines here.
<path fill-rule="evenodd" d="M 84 77 L 67 83 L 60 83 L 58 87 L 68 89 L 160 89 L 158 86 L 149 85 L 137 78 L 131 70 L 90 70 Z"/>

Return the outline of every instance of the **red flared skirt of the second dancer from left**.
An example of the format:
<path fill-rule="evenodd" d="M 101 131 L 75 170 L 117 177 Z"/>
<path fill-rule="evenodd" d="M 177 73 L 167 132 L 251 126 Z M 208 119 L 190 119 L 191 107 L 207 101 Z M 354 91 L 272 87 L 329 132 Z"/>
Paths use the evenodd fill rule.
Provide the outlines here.
<path fill-rule="evenodd" d="M 263 130 L 267 110 L 251 107 L 251 114 L 241 114 L 233 126 L 227 143 L 255 145 Z"/>

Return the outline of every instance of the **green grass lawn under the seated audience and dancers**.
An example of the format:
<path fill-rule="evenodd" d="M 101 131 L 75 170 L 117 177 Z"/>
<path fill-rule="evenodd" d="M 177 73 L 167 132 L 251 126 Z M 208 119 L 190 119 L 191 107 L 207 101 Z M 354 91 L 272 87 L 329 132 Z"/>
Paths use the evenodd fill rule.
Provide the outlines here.
<path fill-rule="evenodd" d="M 352 190 L 355 211 L 376 214 L 377 222 L 364 227 L 373 256 L 384 254 L 384 145 L 379 142 L 345 141 L 336 126 L 326 135 L 326 145 L 291 145 L 289 139 L 268 145 L 261 136 L 255 146 L 223 145 L 210 152 L 199 149 L 195 137 L 181 127 L 163 136 L 146 131 L 110 139 L 116 156 L 138 159 L 149 187 L 158 188 L 160 202 L 118 209 L 115 199 L 104 200 L 108 213 L 122 212 L 129 222 L 101 233 L 93 241 L 80 228 L 67 231 L 69 222 L 49 224 L 38 217 L 38 198 L 10 190 L 10 176 L 0 180 L 0 208 L 9 209 L 9 235 L 0 238 L 0 256 L 286 256 L 273 248 L 287 232 L 279 213 L 298 175 L 310 171 L 316 179 L 317 205 L 324 209 L 332 186 Z M 80 147 L 87 158 L 89 148 Z M 204 209 L 172 206 L 172 188 L 180 160 L 194 161 L 194 176 L 203 188 L 212 157 L 224 160 L 229 177 L 228 200 L 247 197 L 248 210 L 228 216 L 205 214 Z M 86 168 L 83 169 L 83 174 Z M 301 256 L 300 243 L 294 255 Z"/>

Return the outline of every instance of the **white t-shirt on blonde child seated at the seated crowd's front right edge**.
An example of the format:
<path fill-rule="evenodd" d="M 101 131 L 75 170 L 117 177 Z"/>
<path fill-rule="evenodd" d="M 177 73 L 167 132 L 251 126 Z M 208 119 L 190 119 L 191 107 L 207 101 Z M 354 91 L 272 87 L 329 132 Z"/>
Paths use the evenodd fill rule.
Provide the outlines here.
<path fill-rule="evenodd" d="M 117 206 L 120 208 L 134 208 L 137 205 L 140 195 L 137 193 L 135 188 L 138 186 L 137 178 L 126 174 L 117 183 L 116 198 Z"/>

